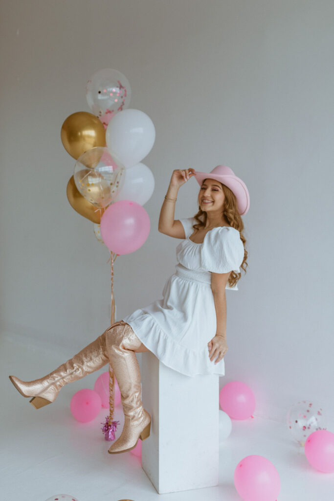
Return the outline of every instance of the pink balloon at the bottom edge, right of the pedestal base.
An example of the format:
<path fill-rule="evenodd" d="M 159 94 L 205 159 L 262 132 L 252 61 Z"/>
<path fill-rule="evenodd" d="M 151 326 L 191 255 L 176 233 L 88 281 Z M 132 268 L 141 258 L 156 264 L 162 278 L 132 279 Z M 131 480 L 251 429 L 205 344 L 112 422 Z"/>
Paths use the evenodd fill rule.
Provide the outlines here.
<path fill-rule="evenodd" d="M 275 501 L 280 480 L 275 466 L 263 456 L 246 456 L 234 470 L 234 485 L 244 501 Z"/>

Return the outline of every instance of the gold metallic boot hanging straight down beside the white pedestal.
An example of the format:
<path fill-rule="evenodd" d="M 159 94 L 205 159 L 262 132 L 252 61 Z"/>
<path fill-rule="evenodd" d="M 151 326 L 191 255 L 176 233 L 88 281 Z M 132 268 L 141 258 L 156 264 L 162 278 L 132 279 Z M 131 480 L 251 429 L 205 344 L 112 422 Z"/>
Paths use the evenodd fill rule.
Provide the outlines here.
<path fill-rule="evenodd" d="M 140 347 L 129 324 L 110 327 L 106 331 L 107 355 L 121 391 L 124 427 L 121 435 L 109 449 L 110 454 L 126 452 L 136 447 L 138 439 L 150 435 L 151 416 L 141 400 L 140 369 L 134 351 Z"/>

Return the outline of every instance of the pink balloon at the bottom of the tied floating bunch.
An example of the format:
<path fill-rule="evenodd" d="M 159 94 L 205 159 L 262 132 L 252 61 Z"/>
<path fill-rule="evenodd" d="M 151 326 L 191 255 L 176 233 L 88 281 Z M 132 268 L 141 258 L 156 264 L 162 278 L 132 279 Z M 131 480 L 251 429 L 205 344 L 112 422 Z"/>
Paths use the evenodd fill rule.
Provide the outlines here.
<path fill-rule="evenodd" d="M 111 252 L 130 254 L 146 241 L 150 233 L 150 218 L 139 203 L 119 200 L 103 213 L 100 229 L 102 239 Z"/>

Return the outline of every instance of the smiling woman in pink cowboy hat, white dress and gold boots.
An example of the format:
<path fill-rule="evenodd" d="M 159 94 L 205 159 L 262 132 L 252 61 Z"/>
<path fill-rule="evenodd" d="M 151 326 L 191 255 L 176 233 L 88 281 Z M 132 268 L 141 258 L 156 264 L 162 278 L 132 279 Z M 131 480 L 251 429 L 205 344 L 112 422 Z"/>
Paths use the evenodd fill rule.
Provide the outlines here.
<path fill-rule="evenodd" d="M 194 217 L 174 220 L 177 192 L 190 177 L 200 185 Z M 60 389 L 110 363 L 124 411 L 124 427 L 109 449 L 133 449 L 150 434 L 151 416 L 141 400 L 135 353 L 151 351 L 172 369 L 188 375 L 224 375 L 226 344 L 225 289 L 237 290 L 247 251 L 241 214 L 249 193 L 229 167 L 210 173 L 174 170 L 162 204 L 159 231 L 182 241 L 176 248 L 176 273 L 166 282 L 163 299 L 114 323 L 93 343 L 47 376 L 34 381 L 10 379 L 39 409 L 54 402 Z M 246 265 L 247 266 L 247 265 Z M 214 362 L 214 363 L 213 363 Z"/>

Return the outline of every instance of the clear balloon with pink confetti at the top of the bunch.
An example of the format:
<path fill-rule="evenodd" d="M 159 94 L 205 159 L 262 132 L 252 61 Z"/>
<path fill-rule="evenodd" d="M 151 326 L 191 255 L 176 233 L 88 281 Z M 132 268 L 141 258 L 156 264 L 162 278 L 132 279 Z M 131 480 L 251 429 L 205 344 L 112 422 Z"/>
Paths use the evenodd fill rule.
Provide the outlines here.
<path fill-rule="evenodd" d="M 112 117 L 130 104 L 129 81 L 120 71 L 104 68 L 88 80 L 86 98 L 88 106 L 106 129 Z"/>

